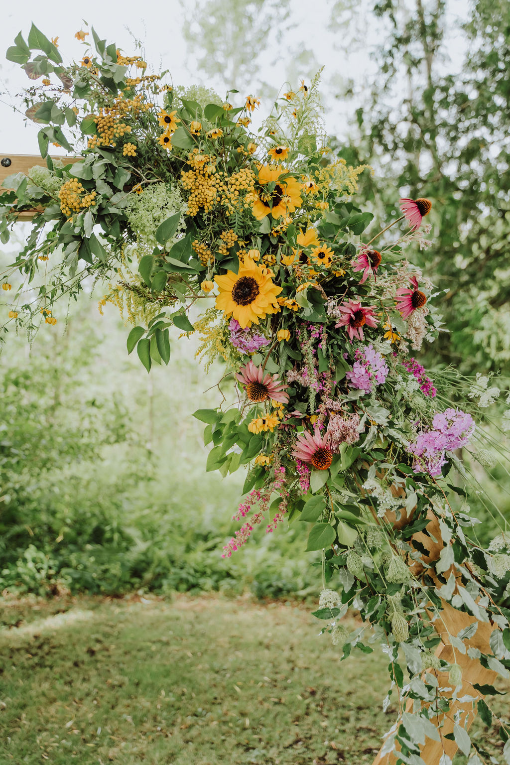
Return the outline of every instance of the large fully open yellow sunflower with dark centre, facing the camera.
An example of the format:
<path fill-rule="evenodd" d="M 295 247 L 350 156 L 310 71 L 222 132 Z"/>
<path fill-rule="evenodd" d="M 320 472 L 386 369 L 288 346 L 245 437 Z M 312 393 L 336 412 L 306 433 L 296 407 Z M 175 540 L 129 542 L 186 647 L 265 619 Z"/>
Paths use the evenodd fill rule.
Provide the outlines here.
<path fill-rule="evenodd" d="M 239 321 L 243 330 L 251 327 L 252 322 L 258 324 L 267 314 L 281 310 L 277 299 L 281 287 L 249 257 L 239 265 L 239 273 L 227 271 L 225 275 L 215 276 L 214 281 L 219 288 L 216 308 L 224 311 L 227 318 L 232 316 Z"/>

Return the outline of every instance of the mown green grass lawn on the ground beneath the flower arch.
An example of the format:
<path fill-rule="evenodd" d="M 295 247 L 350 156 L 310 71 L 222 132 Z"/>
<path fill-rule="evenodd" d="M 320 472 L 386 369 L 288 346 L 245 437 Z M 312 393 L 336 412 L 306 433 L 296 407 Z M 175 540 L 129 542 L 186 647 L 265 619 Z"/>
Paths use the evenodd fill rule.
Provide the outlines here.
<path fill-rule="evenodd" d="M 384 656 L 340 662 L 292 604 L 11 601 L 2 623 L 2 765 L 361 765 L 395 712 Z"/>

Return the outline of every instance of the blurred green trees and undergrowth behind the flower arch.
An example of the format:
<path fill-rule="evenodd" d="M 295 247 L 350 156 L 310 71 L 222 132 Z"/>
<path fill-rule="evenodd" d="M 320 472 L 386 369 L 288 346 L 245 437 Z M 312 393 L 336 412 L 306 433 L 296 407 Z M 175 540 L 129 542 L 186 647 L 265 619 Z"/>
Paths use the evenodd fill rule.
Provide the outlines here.
<path fill-rule="evenodd" d="M 442 290 L 435 302 L 449 332 L 425 351 L 427 363 L 508 376 L 510 6 L 479 0 L 460 18 L 454 0 L 323 5 L 325 33 L 372 60 L 363 83 L 330 66 L 323 93 L 326 109 L 344 106 L 334 151 L 374 168 L 360 184 L 374 232 L 398 214 L 399 196 L 434 201 L 434 245 L 416 258 Z M 290 0 L 186 7 L 197 76 L 219 93 L 258 87 L 269 103 L 285 78 L 295 88 L 320 68 Z M 147 376 L 126 355 L 114 309 L 99 316 L 102 291 L 70 306 L 65 333 L 63 322 L 43 324 L 31 348 L 11 337 L 3 352 L 0 590 L 317 591 L 299 522 L 222 560 L 242 476 L 204 472 L 202 425 L 190 415 L 216 405 L 217 392 L 204 393 L 212 383 L 194 359 L 197 343 L 176 335 L 168 368 Z M 491 491 L 508 515 L 505 487 Z M 492 523 L 476 512 L 490 539 Z"/>

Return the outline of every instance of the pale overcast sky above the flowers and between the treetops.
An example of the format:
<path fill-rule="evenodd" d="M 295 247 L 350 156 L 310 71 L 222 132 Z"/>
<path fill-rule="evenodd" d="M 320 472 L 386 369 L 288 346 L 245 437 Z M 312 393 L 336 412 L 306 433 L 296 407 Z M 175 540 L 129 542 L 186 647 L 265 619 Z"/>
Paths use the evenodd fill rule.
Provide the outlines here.
<path fill-rule="evenodd" d="M 218 0 L 221 2 L 221 0 Z M 359 0 L 360 4 L 368 8 L 372 5 L 370 0 Z M 406 0 L 412 2 L 412 0 Z M 80 9 L 81 5 L 81 9 Z M 126 53 L 133 51 L 132 37 L 126 26 L 141 39 L 145 44 L 149 63 L 153 63 L 156 69 L 160 60 L 164 67 L 171 69 L 174 83 L 190 85 L 193 82 L 206 84 L 206 75 L 197 73 L 193 51 L 184 42 L 180 32 L 183 23 L 183 11 L 179 0 L 144 0 L 133 2 L 125 0 L 112 2 L 102 0 L 96 7 L 70 2 L 70 0 L 52 0 L 50 5 L 43 5 L 40 0 L 22 0 L 18 3 L 5 3 L 2 12 L 2 25 L 0 26 L 0 89 L 7 90 L 9 95 L 2 96 L 0 103 L 0 154 L 37 154 L 37 125 L 28 122 L 24 125 L 23 116 L 13 112 L 11 105 L 17 103 L 16 93 L 19 93 L 30 81 L 21 67 L 5 60 L 5 51 L 12 44 L 16 34 L 22 31 L 26 40 L 30 30 L 31 21 L 41 29 L 47 37 L 59 37 L 59 50 L 64 63 L 69 60 L 80 60 L 85 49 L 75 40 L 75 32 L 83 27 L 83 16 L 86 11 L 86 21 L 93 24 L 101 37 L 108 41 L 115 41 Z M 335 102 L 331 93 L 327 93 L 327 82 L 335 77 L 353 77 L 362 86 L 366 77 L 373 71 L 374 64 L 369 58 L 368 49 L 377 41 L 371 37 L 369 24 L 367 24 L 365 44 L 356 50 L 346 51 L 345 36 L 338 31 L 331 33 L 328 29 L 330 9 L 334 5 L 333 0 L 294 0 L 291 5 L 292 17 L 296 21 L 294 29 L 285 37 L 281 50 L 282 67 L 285 72 L 291 57 L 291 51 L 296 50 L 300 44 L 313 51 L 319 66 L 326 67 L 324 77 L 324 90 L 326 97 L 326 128 L 336 135 L 345 135 L 346 125 L 349 122 L 349 114 L 356 108 L 356 103 L 346 105 Z M 452 18 L 456 15 L 463 16 L 466 13 L 466 2 L 463 0 L 450 0 Z M 313 13 L 310 11 L 313 8 Z M 367 14 L 367 19 L 369 18 Z M 364 33 L 364 30 L 363 30 Z M 450 41 L 451 67 L 457 67 L 460 63 L 462 48 L 460 41 L 453 38 Z M 271 53 L 271 59 L 274 52 Z M 285 63 L 285 67 L 283 66 Z M 266 80 L 278 86 L 274 75 L 274 69 L 264 70 L 264 63 L 258 65 L 261 69 L 261 80 Z M 300 72 L 296 71 L 297 85 Z M 284 80 L 284 75 L 282 76 Z M 39 81 L 40 82 L 40 81 Z M 219 88 L 223 83 L 213 80 L 210 86 Z M 235 86 L 236 83 L 229 83 Z M 264 106 L 270 109 L 270 103 L 264 103 L 264 93 L 258 94 L 262 99 L 262 111 Z M 266 99 L 267 100 L 267 99 Z"/>

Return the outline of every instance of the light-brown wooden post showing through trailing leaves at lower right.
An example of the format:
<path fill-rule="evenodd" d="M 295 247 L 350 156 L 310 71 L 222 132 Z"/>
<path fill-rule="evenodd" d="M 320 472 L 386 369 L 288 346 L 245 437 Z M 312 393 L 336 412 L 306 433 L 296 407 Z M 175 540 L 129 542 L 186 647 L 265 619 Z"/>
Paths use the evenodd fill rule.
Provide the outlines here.
<path fill-rule="evenodd" d="M 392 519 L 388 518 L 388 520 L 391 522 Z M 404 526 L 406 522 L 407 518 L 404 517 L 400 522 L 398 522 L 398 526 Z M 433 516 L 432 513 L 430 513 L 430 522 L 427 526 L 427 531 L 429 531 L 430 534 L 434 536 L 438 541 L 434 542 L 433 539 L 431 539 L 427 534 L 424 534 L 424 532 L 418 532 L 417 534 L 414 534 L 413 539 L 416 539 L 417 542 L 421 542 L 421 545 L 423 545 L 424 548 L 428 551 L 428 555 L 422 556 L 424 562 L 433 564 L 434 561 L 437 561 L 440 556 L 440 552 L 443 549 L 443 541 L 440 535 L 439 523 L 437 522 L 437 518 Z M 423 567 L 421 567 L 419 563 L 415 565 L 413 567 L 414 575 L 419 575 L 422 568 Z M 455 571 L 453 567 L 450 569 L 450 571 L 451 570 Z M 430 571 L 430 569 L 427 569 L 427 572 L 429 575 L 433 575 L 433 571 Z M 448 575 L 449 573 L 447 572 L 447 576 Z M 453 606 L 451 606 L 446 601 L 441 601 L 441 604 L 443 607 L 443 610 L 441 611 L 441 619 L 443 621 L 440 622 L 437 619 L 435 620 L 437 633 L 439 633 L 441 636 L 441 643 L 439 646 L 437 646 L 436 655 L 440 659 L 444 659 L 447 662 L 456 662 L 461 667 L 463 683 L 462 690 L 458 693 L 461 698 L 465 695 L 479 696 L 479 698 L 483 698 L 482 694 L 473 688 L 473 684 L 478 683 L 479 685 L 493 685 L 497 676 L 496 672 L 492 672 L 492 670 L 486 669 L 480 664 L 478 659 L 470 659 L 467 654 L 460 653 L 458 649 L 454 655 L 453 647 L 449 639 L 449 634 L 456 636 L 460 630 L 463 630 L 465 627 L 468 627 L 469 624 L 473 624 L 478 620 L 471 616 L 471 614 L 465 614 L 463 611 L 453 608 Z M 431 617 L 433 617 L 432 614 Z M 476 630 L 476 633 L 472 638 L 464 640 L 463 642 L 468 647 L 473 646 L 474 648 L 478 648 L 482 653 L 492 653 L 492 650 L 489 646 L 489 640 L 492 630 L 495 629 L 498 629 L 496 624 L 492 624 L 491 622 L 478 622 L 478 629 Z M 439 684 L 439 694 L 441 694 L 441 688 L 451 688 L 446 672 L 436 672 L 432 669 L 430 669 L 429 672 L 433 672 L 437 677 L 437 682 Z M 446 692 L 445 695 L 449 697 L 450 692 Z M 411 704 L 409 706 L 411 706 Z M 455 741 L 450 741 L 444 736 L 453 732 L 453 716 L 455 715 L 456 711 L 460 711 L 460 725 L 466 728 L 466 730 L 468 730 L 469 726 L 473 723 L 475 714 L 473 713 L 472 702 L 452 702 L 450 704 L 450 711 L 448 714 L 440 715 L 439 718 L 434 721 L 440 733 L 440 740 L 434 741 L 431 738 L 427 738 L 425 739 L 424 747 L 421 749 L 421 758 L 424 760 L 424 763 L 427 763 L 427 765 L 438 765 L 443 753 L 446 753 L 453 760 L 453 756 L 456 754 L 456 751 L 459 747 L 457 747 Z M 373 765 L 395 765 L 396 761 L 397 757 L 395 756 L 394 752 L 382 755 L 379 751 L 377 757 L 375 757 Z"/>

